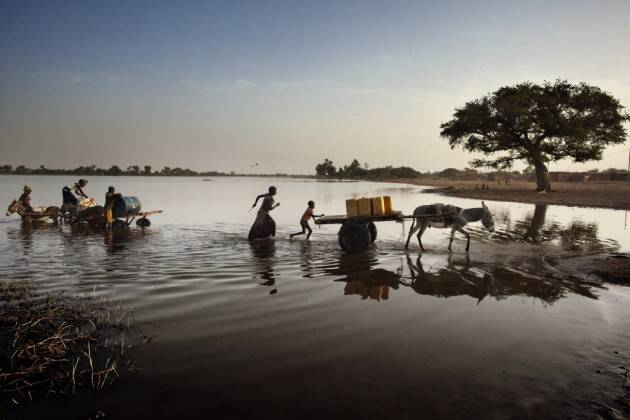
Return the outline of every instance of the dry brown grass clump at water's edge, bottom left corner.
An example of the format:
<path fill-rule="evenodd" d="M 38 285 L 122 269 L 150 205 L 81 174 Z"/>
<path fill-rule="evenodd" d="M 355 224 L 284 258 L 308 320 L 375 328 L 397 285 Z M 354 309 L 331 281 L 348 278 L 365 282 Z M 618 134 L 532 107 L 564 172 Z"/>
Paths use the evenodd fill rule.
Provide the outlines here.
<path fill-rule="evenodd" d="M 0 392 L 18 404 L 103 389 L 132 347 L 130 329 L 128 314 L 109 300 L 39 296 L 29 282 L 0 278 Z"/>

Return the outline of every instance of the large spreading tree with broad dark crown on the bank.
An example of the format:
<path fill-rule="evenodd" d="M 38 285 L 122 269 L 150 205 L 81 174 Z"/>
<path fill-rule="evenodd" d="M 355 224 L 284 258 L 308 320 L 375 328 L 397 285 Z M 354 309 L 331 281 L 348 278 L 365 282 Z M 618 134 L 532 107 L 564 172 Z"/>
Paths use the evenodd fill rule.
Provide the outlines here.
<path fill-rule="evenodd" d="M 475 167 L 506 169 L 524 160 L 536 190 L 551 191 L 548 162 L 600 160 L 604 148 L 626 140 L 630 117 L 619 101 L 595 86 L 567 81 L 506 86 L 455 110 L 441 125 L 451 148 L 481 152 Z"/>

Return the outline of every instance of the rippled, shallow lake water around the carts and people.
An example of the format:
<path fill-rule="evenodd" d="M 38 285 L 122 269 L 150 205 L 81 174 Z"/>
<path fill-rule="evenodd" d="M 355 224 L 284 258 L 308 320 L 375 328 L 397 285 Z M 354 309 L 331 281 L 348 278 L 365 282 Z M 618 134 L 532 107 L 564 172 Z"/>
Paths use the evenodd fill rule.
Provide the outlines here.
<path fill-rule="evenodd" d="M 0 199 L 33 187 L 58 204 L 69 177 L 0 177 Z M 275 241 L 245 240 L 256 195 L 278 188 Z M 114 418 L 569 417 L 623 410 L 630 288 L 558 261 L 627 252 L 615 210 L 487 204 L 497 232 L 471 226 L 471 252 L 429 229 L 404 250 L 403 226 L 378 224 L 373 248 L 344 254 L 336 226 L 289 241 L 308 200 L 340 214 L 349 197 L 420 204 L 473 200 L 409 185 L 253 178 L 99 178 L 164 210 L 144 233 L 104 235 L 0 222 L 0 275 L 41 290 L 113 296 L 153 337 L 140 372 L 101 392 L 18 408 L 9 418 L 103 410 Z M 407 225 L 408 229 L 409 226 Z M 598 373 L 601 371 L 602 373 Z M 1 410 L 1 409 L 0 409 Z M 1 411 L 0 411 L 1 413 Z M 1 417 L 1 416 L 0 416 Z"/>

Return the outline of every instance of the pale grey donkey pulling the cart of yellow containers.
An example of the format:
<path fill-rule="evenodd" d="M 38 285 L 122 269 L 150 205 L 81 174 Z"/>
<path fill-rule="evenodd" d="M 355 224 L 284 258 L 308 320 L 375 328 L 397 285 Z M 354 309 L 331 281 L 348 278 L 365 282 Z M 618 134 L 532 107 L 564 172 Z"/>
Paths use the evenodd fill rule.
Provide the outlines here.
<path fill-rule="evenodd" d="M 422 235 L 427 227 L 436 227 L 440 229 L 451 228 L 451 239 L 448 242 L 448 250 L 452 251 L 451 245 L 455 238 L 455 232 L 461 232 L 466 235 L 466 252 L 470 249 L 470 234 L 466 232 L 464 226 L 470 222 L 481 221 L 483 226 L 489 232 L 494 232 L 494 219 L 492 213 L 486 203 L 481 202 L 481 207 L 475 207 L 471 209 L 462 209 L 460 207 L 451 206 L 448 204 L 429 204 L 425 206 L 417 207 L 413 215 L 415 216 L 407 237 L 407 243 L 405 248 L 409 247 L 409 240 L 411 235 L 418 232 L 418 243 L 420 249 L 424 251 L 422 246 Z M 431 215 L 435 215 L 431 217 Z"/>

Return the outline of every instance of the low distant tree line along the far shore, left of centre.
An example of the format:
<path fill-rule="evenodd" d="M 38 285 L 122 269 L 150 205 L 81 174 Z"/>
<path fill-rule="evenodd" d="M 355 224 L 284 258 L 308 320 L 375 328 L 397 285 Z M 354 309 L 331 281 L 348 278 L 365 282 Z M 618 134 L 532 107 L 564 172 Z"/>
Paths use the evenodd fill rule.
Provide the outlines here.
<path fill-rule="evenodd" d="M 84 176 L 282 176 L 290 177 L 285 173 L 275 174 L 238 174 L 236 172 L 205 171 L 198 172 L 192 169 L 165 166 L 159 170 L 153 170 L 149 165 L 131 165 L 126 169 L 118 165 L 112 165 L 109 169 L 99 168 L 96 165 L 79 166 L 75 169 L 50 169 L 44 165 L 39 168 L 27 168 L 24 165 L 13 167 L 12 165 L 0 165 L 0 175 L 84 175 Z"/>

